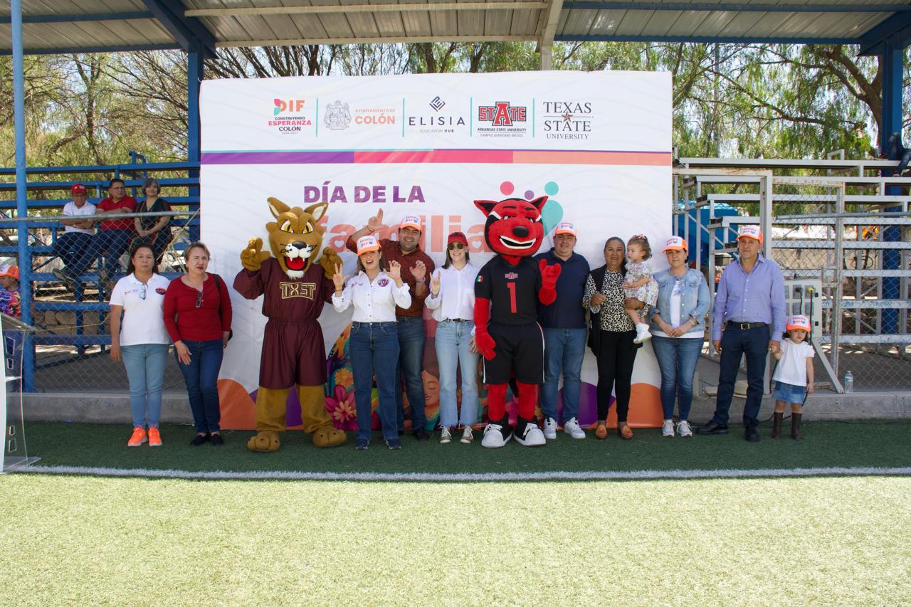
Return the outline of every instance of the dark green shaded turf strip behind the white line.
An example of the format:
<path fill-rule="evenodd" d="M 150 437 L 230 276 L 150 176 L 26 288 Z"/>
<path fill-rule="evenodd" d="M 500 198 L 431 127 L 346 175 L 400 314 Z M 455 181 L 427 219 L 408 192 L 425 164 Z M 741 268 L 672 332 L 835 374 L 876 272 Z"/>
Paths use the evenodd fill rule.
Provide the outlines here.
<path fill-rule="evenodd" d="M 788 427 L 785 423 L 785 435 Z M 906 422 L 818 422 L 804 425 L 804 440 L 773 440 L 763 427 L 759 443 L 747 443 L 739 427 L 717 437 L 667 438 L 659 429 L 637 429 L 632 440 L 611 431 L 607 440 L 593 433 L 574 440 L 562 432 L 540 448 L 511 441 L 505 448 L 486 449 L 480 432 L 471 445 L 457 440 L 440 445 L 438 433 L 418 443 L 410 433 L 403 448 L 385 448 L 379 433 L 367 451 L 355 451 L 353 434 L 340 448 L 314 448 L 302 432 L 282 435 L 277 453 L 251 453 L 252 432 L 225 433 L 225 445 L 189 447 L 194 430 L 164 425 L 160 448 L 127 448 L 130 428 L 114 425 L 32 422 L 26 426 L 28 455 L 42 466 L 104 468 L 168 468 L 180 470 L 291 470 L 315 472 L 537 472 L 590 470 L 755 469 L 911 466 Z"/>

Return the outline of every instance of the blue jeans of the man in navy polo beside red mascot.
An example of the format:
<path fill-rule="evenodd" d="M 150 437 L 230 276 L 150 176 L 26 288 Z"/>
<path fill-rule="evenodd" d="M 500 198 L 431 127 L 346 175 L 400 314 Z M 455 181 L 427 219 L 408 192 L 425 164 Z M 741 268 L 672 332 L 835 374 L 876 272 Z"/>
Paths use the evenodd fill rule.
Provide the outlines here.
<path fill-rule="evenodd" d="M 557 391 L 563 374 L 563 423 L 578 417 L 582 359 L 588 329 L 544 329 L 544 387 L 541 413 L 557 420 Z"/>

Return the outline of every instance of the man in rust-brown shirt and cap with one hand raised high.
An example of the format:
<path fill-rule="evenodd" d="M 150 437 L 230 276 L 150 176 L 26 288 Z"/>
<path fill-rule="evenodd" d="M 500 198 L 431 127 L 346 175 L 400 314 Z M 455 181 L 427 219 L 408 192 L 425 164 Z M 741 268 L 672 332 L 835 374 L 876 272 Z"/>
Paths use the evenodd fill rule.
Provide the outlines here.
<path fill-rule="evenodd" d="M 367 225 L 355 231 L 348 237 L 347 246 L 350 251 L 357 252 L 357 239 L 367 234 L 372 234 L 383 228 L 383 210 L 380 209 L 375 217 L 367 221 Z M 434 272 L 434 261 L 427 253 L 421 251 L 418 242 L 421 240 L 421 218 L 416 215 L 405 215 L 399 224 L 398 240 L 388 238 L 380 240 L 380 249 L 383 251 L 383 262 L 388 267 L 389 262 L 402 264 L 402 280 L 411 292 L 411 306 L 408 308 L 395 307 L 395 318 L 398 321 L 399 337 L 399 364 L 395 375 L 398 385 L 402 384 L 404 376 L 405 392 L 408 394 L 409 412 L 415 437 L 425 442 L 427 440 L 427 417 L 424 407 L 424 379 L 421 369 L 424 366 L 424 300 L 430 293 L 426 287 L 426 276 Z M 402 431 L 404 423 L 402 407 L 402 390 L 395 391 L 395 400 L 398 412 L 398 427 Z"/>

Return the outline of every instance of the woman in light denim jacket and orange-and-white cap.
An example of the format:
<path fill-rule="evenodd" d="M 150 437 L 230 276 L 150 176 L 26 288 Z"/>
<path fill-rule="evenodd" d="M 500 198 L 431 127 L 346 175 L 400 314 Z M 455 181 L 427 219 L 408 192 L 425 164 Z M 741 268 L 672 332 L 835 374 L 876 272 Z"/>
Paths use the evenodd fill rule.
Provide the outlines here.
<path fill-rule="evenodd" d="M 702 351 L 705 314 L 709 312 L 709 285 L 697 270 L 687 267 L 687 243 L 671 237 L 664 246 L 670 269 L 655 274 L 658 303 L 651 314 L 651 344 L 661 369 L 661 436 L 674 436 L 674 396 L 680 407 L 677 433 L 692 437 L 690 406 L 692 377 Z M 675 395 L 676 393 L 676 395 Z"/>

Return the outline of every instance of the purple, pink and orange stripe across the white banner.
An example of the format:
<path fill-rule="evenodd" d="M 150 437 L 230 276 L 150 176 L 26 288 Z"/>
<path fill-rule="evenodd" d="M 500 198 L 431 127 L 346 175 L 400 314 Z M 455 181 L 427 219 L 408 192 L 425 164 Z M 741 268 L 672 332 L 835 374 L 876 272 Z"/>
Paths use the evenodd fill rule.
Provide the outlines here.
<path fill-rule="evenodd" d="M 544 149 L 203 152 L 202 164 L 578 164 L 669 167 L 670 152 Z"/>

